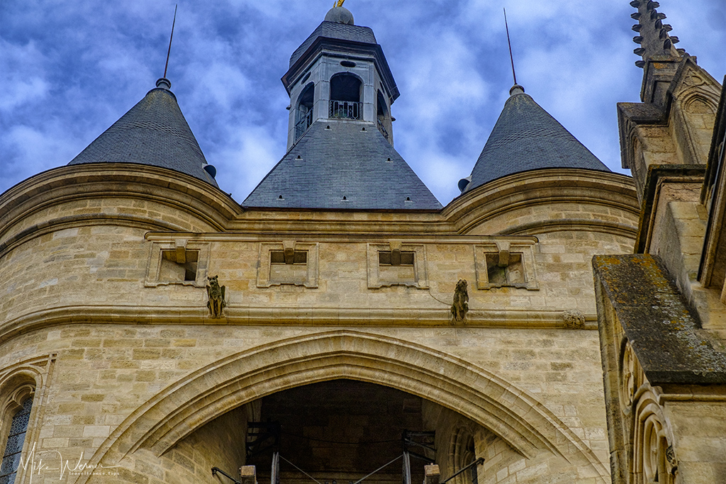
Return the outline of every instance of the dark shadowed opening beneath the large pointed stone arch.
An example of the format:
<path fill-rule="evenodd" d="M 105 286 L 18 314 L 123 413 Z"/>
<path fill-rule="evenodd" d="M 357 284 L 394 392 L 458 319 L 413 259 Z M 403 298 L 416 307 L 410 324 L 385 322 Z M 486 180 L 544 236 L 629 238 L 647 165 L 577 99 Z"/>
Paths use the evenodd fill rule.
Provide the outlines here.
<path fill-rule="evenodd" d="M 470 464 L 463 460 L 484 456 L 492 437 L 470 419 L 420 396 L 340 379 L 272 393 L 229 411 L 189 435 L 172 454 L 215 448 L 207 465 L 232 476 L 242 464 L 255 466 L 258 483 L 353 484 L 365 478 L 367 484 L 419 484 L 425 465 L 439 464 L 443 481 Z M 481 466 L 467 470 L 456 484 L 476 483 Z"/>

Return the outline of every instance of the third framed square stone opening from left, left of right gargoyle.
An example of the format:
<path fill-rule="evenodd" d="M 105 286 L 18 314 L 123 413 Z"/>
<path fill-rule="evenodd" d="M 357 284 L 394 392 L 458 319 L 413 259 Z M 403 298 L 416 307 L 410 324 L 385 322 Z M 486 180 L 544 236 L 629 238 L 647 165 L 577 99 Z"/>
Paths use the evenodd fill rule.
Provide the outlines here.
<path fill-rule="evenodd" d="M 428 289 L 423 244 L 368 244 L 368 289 L 406 286 Z"/>

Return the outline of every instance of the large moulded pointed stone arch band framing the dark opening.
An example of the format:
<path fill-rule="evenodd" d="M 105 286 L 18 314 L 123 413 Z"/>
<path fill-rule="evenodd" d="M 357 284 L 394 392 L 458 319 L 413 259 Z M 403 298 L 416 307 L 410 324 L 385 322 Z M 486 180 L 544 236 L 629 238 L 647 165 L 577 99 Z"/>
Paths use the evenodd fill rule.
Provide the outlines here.
<path fill-rule="evenodd" d="M 439 403 L 489 428 L 526 457 L 542 451 L 607 470 L 582 440 L 536 399 L 446 353 L 404 340 L 338 330 L 234 354 L 169 385 L 119 425 L 90 464 L 115 465 L 139 448 L 160 456 L 216 417 L 271 393 L 347 378 Z M 76 483 L 85 482 L 79 477 Z"/>

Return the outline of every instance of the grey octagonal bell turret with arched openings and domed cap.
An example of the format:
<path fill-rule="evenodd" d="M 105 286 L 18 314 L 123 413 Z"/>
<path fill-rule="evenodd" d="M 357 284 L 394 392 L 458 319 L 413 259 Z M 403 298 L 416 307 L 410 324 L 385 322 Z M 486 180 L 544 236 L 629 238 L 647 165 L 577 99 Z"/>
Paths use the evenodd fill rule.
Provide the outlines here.
<path fill-rule="evenodd" d="M 345 7 L 330 9 L 293 52 L 282 83 L 290 95 L 288 151 L 313 123 L 330 119 L 373 123 L 393 145 L 396 81 L 373 30 L 355 25 Z"/>

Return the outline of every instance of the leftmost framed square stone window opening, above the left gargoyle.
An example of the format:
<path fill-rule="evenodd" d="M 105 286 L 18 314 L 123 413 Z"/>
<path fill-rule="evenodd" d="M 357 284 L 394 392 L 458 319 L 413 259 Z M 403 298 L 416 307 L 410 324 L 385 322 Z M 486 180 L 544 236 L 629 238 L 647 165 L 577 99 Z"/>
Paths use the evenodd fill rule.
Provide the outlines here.
<path fill-rule="evenodd" d="M 206 287 L 209 254 L 209 242 L 188 239 L 152 242 L 144 286 Z"/>

